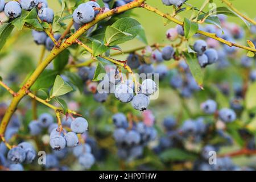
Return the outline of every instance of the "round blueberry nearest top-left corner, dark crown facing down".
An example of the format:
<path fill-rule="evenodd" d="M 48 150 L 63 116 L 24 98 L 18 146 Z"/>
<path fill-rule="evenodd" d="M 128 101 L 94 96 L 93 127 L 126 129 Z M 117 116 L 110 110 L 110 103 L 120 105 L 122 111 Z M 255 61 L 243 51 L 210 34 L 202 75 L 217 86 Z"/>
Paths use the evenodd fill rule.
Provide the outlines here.
<path fill-rule="evenodd" d="M 22 13 L 20 4 L 16 1 L 7 2 L 5 5 L 5 14 L 11 19 L 17 18 Z"/>

